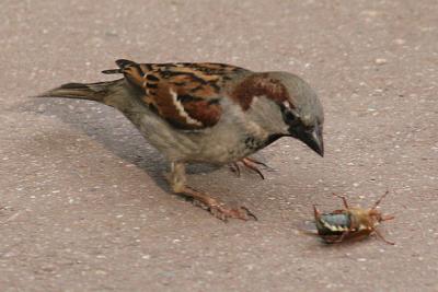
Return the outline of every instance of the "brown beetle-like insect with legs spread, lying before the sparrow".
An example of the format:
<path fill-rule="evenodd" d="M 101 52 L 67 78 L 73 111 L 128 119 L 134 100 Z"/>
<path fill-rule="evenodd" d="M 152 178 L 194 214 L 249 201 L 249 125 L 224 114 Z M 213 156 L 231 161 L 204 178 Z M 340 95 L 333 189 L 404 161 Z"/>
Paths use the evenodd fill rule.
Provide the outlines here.
<path fill-rule="evenodd" d="M 333 195 L 343 200 L 345 209 L 335 210 L 331 213 L 320 213 L 316 206 L 313 205 L 318 234 L 325 243 L 335 244 L 351 238 L 361 240 L 376 233 L 383 242 L 393 245 L 394 243 L 387 241 L 376 229 L 380 222 L 394 219 L 393 215 L 383 215 L 377 210 L 377 207 L 388 194 L 389 191 L 384 192 L 371 209 L 350 208 L 345 197 L 335 194 Z"/>

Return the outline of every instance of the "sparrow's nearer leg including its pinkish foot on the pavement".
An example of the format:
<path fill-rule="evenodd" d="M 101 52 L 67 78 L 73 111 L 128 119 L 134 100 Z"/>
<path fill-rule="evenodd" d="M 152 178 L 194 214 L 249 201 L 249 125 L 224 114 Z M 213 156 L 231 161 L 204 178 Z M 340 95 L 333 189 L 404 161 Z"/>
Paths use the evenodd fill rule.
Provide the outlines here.
<path fill-rule="evenodd" d="M 186 185 L 187 179 L 185 175 L 185 165 L 182 162 L 172 163 L 169 180 L 172 186 L 172 190 L 175 194 L 201 203 L 211 212 L 212 215 L 219 218 L 220 220 L 227 221 L 229 218 L 237 218 L 241 220 L 249 220 L 250 218 L 253 218 L 257 220 L 257 218 L 246 207 L 242 206 L 238 208 L 231 208 L 206 192 L 201 192 L 188 187 Z"/>

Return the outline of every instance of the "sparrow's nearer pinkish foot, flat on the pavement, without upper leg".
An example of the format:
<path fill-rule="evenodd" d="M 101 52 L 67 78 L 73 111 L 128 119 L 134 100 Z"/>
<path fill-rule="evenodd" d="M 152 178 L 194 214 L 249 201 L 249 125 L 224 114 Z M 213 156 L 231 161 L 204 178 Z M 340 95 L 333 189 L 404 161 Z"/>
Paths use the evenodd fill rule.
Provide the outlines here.
<path fill-rule="evenodd" d="M 193 188 L 184 187 L 184 189 L 178 194 L 193 199 L 195 205 L 210 211 L 214 217 L 222 221 L 228 221 L 230 218 L 244 221 L 250 219 L 257 220 L 257 218 L 246 207 L 230 207 L 218 199 L 210 197 L 208 194 L 195 190 Z"/>

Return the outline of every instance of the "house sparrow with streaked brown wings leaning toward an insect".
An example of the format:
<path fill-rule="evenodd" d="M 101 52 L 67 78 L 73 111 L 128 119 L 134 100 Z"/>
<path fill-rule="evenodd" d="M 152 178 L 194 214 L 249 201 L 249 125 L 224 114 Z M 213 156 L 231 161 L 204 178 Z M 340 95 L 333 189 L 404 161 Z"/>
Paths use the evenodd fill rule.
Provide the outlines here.
<path fill-rule="evenodd" d="M 324 115 L 315 92 L 287 72 L 253 72 L 223 63 L 137 63 L 117 60 L 124 78 L 68 83 L 42 97 L 82 98 L 119 109 L 171 163 L 172 190 L 219 219 L 254 218 L 187 186 L 185 164 L 242 162 L 281 137 L 293 137 L 323 156 Z"/>

